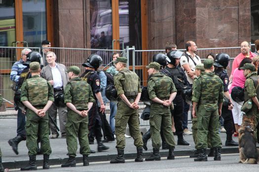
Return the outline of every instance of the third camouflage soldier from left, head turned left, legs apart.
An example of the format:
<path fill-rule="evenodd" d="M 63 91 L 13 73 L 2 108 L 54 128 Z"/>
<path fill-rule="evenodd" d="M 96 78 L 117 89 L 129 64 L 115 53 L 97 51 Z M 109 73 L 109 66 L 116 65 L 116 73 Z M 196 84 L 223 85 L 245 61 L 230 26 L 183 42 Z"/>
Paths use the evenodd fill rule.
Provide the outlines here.
<path fill-rule="evenodd" d="M 115 115 L 115 135 L 117 140 L 118 155 L 110 163 L 125 163 L 125 132 L 127 123 L 130 134 L 137 147 L 136 162 L 143 161 L 143 141 L 139 129 L 139 100 L 141 96 L 140 78 L 138 75 L 126 68 L 127 58 L 117 57 L 114 61 L 118 74 L 114 75 L 114 85 L 119 96 L 117 113 Z"/>

